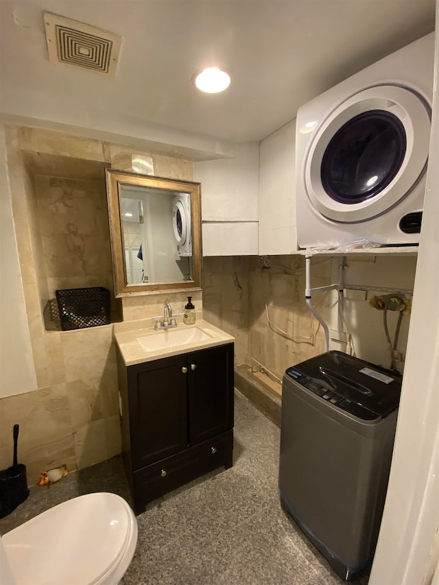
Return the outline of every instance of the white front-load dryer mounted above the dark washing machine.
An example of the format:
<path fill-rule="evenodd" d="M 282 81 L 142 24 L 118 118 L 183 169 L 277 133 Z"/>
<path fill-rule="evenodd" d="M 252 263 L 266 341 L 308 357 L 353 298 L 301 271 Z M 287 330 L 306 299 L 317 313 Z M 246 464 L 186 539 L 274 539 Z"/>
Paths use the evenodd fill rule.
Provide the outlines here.
<path fill-rule="evenodd" d="M 431 33 L 298 110 L 300 248 L 419 242 L 433 77 Z"/>

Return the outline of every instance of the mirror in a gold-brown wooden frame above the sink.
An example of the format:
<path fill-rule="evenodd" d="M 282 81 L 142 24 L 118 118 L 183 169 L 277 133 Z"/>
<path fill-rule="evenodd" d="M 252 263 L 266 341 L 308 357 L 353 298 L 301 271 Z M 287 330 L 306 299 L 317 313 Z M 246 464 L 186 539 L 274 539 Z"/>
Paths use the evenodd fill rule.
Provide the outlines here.
<path fill-rule="evenodd" d="M 115 296 L 202 287 L 200 183 L 106 169 Z"/>

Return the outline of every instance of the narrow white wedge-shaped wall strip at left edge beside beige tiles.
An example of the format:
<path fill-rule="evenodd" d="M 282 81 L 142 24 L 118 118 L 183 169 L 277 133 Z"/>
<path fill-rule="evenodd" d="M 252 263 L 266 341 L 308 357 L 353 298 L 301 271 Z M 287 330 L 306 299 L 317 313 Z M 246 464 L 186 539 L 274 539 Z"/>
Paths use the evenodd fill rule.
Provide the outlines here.
<path fill-rule="evenodd" d="M 36 390 L 34 358 L 9 191 L 5 132 L 0 127 L 0 398 Z"/>

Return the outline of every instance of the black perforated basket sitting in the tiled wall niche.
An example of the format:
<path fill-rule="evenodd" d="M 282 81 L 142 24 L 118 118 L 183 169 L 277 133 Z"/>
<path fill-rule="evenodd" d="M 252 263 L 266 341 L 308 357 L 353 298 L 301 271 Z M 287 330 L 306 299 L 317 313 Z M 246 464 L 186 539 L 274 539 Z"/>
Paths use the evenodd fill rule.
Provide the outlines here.
<path fill-rule="evenodd" d="M 55 291 L 62 331 L 110 323 L 110 291 L 103 287 Z"/>

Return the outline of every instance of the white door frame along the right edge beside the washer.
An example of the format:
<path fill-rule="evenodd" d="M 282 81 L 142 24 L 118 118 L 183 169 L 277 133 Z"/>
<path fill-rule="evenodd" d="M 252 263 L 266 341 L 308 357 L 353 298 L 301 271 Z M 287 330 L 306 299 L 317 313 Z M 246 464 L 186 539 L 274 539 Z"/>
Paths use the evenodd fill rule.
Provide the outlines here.
<path fill-rule="evenodd" d="M 439 5 L 427 192 L 388 495 L 369 585 L 429 585 L 439 527 Z M 436 545 L 435 545 L 436 538 Z M 436 571 L 436 580 L 438 573 Z"/>

